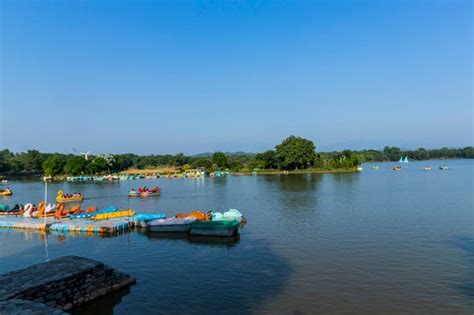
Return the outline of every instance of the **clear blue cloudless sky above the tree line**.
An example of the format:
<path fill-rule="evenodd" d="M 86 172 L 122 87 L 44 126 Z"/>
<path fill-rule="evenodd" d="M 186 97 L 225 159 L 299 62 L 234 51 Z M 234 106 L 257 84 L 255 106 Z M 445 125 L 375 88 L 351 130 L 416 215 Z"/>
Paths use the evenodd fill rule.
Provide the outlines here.
<path fill-rule="evenodd" d="M 468 0 L 0 2 L 2 148 L 473 144 Z"/>

